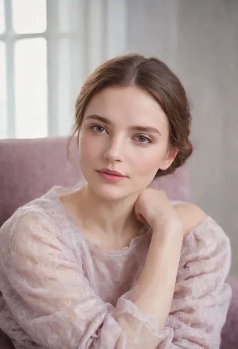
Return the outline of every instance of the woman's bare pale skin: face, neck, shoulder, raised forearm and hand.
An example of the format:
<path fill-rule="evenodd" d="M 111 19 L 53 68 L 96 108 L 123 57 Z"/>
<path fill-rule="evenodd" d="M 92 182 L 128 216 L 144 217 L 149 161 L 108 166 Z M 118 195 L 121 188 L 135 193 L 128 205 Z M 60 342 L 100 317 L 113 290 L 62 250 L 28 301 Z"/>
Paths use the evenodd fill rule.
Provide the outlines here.
<path fill-rule="evenodd" d="M 109 87 L 89 102 L 78 133 L 79 161 L 87 185 L 61 196 L 86 238 L 104 250 L 127 246 L 144 222 L 152 239 L 134 303 L 153 314 L 162 330 L 169 315 L 184 236 L 206 214 L 196 205 L 173 206 L 150 186 L 178 150 L 169 145 L 169 124 L 159 104 L 136 86 Z M 126 177 L 109 182 L 108 168 Z M 149 348 L 148 348 L 149 349 Z"/>

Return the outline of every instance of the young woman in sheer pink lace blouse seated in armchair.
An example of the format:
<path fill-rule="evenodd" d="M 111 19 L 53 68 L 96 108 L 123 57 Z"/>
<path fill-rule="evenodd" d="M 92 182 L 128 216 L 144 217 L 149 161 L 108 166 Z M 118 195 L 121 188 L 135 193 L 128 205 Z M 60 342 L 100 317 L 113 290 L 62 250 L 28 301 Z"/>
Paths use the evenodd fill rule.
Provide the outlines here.
<path fill-rule="evenodd" d="M 229 239 L 150 186 L 192 153 L 190 119 L 156 58 L 89 76 L 71 137 L 86 182 L 53 187 L 1 228 L 0 327 L 17 349 L 219 348 Z"/>

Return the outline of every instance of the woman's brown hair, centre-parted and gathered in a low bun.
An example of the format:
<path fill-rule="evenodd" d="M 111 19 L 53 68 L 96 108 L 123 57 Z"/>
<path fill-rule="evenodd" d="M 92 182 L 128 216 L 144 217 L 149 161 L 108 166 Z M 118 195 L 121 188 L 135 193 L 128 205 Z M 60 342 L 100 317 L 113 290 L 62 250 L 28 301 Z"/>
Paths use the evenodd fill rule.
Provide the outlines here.
<path fill-rule="evenodd" d="M 106 61 L 89 75 L 76 100 L 75 125 L 67 149 L 81 126 L 91 98 L 113 85 L 139 86 L 160 104 L 169 121 L 170 145 L 179 152 L 171 166 L 165 171 L 159 170 L 156 177 L 173 173 L 192 153 L 189 140 L 191 114 L 183 85 L 168 66 L 157 58 L 145 58 L 139 54 L 117 57 Z"/>

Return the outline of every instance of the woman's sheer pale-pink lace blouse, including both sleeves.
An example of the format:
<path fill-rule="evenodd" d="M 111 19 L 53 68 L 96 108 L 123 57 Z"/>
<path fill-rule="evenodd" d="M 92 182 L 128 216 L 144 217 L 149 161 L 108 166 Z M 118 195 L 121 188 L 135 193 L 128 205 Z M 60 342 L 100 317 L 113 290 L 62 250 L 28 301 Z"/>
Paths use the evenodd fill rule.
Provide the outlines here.
<path fill-rule="evenodd" d="M 0 328 L 17 349 L 172 349 L 220 345 L 230 242 L 206 217 L 184 238 L 164 330 L 131 301 L 151 233 L 120 251 L 90 243 L 53 187 L 0 229 Z"/>

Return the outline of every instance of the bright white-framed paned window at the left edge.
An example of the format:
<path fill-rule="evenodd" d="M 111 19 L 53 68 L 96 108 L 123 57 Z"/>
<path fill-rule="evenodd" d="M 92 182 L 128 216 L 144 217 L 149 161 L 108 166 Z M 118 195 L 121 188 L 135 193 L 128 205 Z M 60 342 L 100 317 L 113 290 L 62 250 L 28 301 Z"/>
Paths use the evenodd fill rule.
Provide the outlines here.
<path fill-rule="evenodd" d="M 0 137 L 45 137 L 46 0 L 0 0 Z"/>

